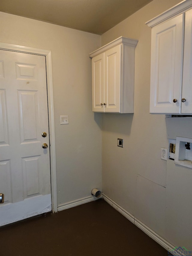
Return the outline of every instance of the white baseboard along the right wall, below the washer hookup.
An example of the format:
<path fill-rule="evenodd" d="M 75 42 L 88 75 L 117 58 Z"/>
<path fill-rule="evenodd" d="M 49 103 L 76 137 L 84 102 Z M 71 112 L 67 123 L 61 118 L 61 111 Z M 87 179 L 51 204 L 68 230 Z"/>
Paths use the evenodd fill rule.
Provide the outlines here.
<path fill-rule="evenodd" d="M 173 251 L 175 248 L 174 245 L 167 242 L 164 238 L 159 236 L 157 233 L 155 233 L 152 229 L 147 227 L 143 222 L 138 220 L 134 217 L 131 213 L 127 212 L 125 209 L 123 209 L 119 204 L 114 202 L 110 197 L 106 196 L 102 193 L 102 196 L 107 203 L 109 203 L 113 208 L 115 208 L 118 212 L 120 212 L 125 218 L 127 218 L 129 221 L 131 221 L 133 224 L 135 224 L 137 227 L 139 227 L 144 233 L 146 233 L 148 236 L 150 236 L 153 240 L 155 240 L 158 244 L 160 244 L 163 248 L 165 248 L 167 251 Z M 179 251 L 178 251 L 179 253 Z M 183 255 L 177 254 L 177 255 Z"/>

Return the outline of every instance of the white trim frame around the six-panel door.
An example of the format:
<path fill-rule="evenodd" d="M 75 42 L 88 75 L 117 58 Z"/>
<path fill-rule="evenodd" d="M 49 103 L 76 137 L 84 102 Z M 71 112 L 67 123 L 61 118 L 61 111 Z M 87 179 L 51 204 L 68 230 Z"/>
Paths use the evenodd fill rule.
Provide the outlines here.
<path fill-rule="evenodd" d="M 56 152 L 55 152 L 55 123 L 54 123 L 54 104 L 53 104 L 53 82 L 52 82 L 52 59 L 50 50 L 19 46 L 0 42 L 1 50 L 9 50 L 20 53 L 29 53 L 45 56 L 46 59 L 46 78 L 47 78 L 47 98 L 49 116 L 49 140 L 50 140 L 50 168 L 51 168 L 51 201 L 52 212 L 57 212 L 57 179 L 56 179 Z"/>

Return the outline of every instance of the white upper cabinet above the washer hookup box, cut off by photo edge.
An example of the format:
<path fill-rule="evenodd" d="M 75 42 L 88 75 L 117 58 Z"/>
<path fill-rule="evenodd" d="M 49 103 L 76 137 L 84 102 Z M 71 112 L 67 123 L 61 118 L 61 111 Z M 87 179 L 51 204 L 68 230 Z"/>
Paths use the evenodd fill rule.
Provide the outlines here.
<path fill-rule="evenodd" d="M 152 28 L 150 113 L 192 115 L 191 8 L 186 0 L 146 23 Z"/>

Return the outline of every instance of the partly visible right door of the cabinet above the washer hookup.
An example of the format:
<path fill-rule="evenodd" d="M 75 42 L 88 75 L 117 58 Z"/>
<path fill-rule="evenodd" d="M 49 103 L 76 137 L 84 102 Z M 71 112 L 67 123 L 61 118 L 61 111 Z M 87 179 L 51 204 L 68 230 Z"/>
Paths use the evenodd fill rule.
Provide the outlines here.
<path fill-rule="evenodd" d="M 192 114 L 192 9 L 185 14 L 182 113 Z"/>

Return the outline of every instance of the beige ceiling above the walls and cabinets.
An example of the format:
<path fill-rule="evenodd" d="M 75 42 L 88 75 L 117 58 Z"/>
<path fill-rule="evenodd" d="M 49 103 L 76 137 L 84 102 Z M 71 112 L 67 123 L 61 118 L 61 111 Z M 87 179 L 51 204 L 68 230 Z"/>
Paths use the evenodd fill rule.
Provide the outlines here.
<path fill-rule="evenodd" d="M 152 0 L 0 0 L 0 11 L 98 35 Z"/>

